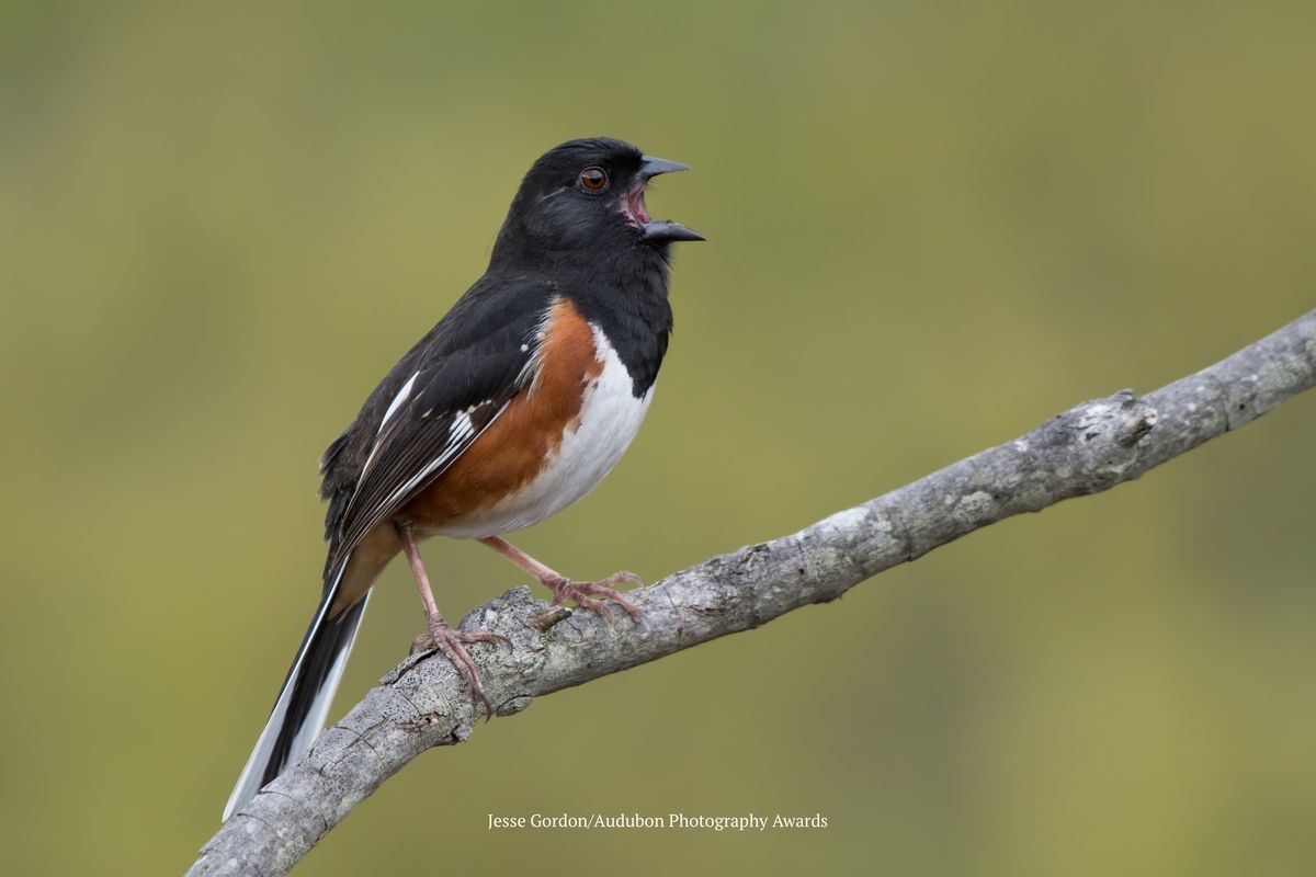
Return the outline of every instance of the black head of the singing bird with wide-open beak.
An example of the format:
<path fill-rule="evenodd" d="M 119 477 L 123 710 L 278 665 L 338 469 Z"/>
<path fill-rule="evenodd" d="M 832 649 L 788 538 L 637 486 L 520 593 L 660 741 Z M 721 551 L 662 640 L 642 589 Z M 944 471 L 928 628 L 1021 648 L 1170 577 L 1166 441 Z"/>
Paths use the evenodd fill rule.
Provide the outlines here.
<path fill-rule="evenodd" d="M 530 167 L 494 246 L 494 260 L 525 262 L 574 254 L 658 254 L 672 241 L 704 238 L 670 220 L 651 220 L 645 184 L 688 171 L 605 137 L 570 141 Z"/>

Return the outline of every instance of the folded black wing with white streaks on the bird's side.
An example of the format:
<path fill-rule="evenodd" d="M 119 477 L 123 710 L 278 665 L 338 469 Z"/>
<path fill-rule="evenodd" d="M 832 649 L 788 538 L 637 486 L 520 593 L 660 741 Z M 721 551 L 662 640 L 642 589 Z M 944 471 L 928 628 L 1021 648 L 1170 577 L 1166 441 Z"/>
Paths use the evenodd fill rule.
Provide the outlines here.
<path fill-rule="evenodd" d="M 533 377 L 544 281 L 486 275 L 375 388 L 321 462 L 326 577 L 453 464 Z"/>

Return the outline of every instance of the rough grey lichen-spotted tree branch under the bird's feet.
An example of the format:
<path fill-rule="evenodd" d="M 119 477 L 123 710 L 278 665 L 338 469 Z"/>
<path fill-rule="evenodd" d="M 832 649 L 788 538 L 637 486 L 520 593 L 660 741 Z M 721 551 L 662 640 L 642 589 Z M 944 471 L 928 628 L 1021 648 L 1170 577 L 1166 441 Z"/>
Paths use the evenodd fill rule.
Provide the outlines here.
<path fill-rule="evenodd" d="M 1316 384 L 1316 310 L 1196 375 L 1144 397 L 1083 402 L 1012 442 L 975 454 L 804 530 L 683 569 L 626 596 L 640 627 L 553 609 L 516 588 L 462 627 L 511 639 L 474 648 L 499 715 L 580 685 L 758 627 L 979 527 L 1133 480 L 1238 429 Z M 403 661 L 326 728 L 315 748 L 236 813 L 190 874 L 287 873 L 353 807 L 425 749 L 463 742 L 479 713 L 446 659 Z"/>

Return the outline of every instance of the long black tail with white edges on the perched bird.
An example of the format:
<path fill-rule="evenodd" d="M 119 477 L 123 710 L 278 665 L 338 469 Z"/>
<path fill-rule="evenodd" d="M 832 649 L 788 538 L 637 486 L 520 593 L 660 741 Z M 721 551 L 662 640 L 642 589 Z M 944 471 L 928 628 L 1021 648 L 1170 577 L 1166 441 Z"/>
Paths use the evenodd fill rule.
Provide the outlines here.
<path fill-rule="evenodd" d="M 329 606 L 338 593 L 342 572 L 340 568 L 330 586 L 325 588 L 316 615 L 297 648 L 297 656 L 279 689 L 279 699 L 274 702 L 261 739 L 224 806 L 225 819 L 254 798 L 265 784 L 283 773 L 287 765 L 305 755 L 324 727 L 334 690 L 347 667 L 347 655 L 357 639 L 357 627 L 370 600 L 367 594 L 338 618 L 329 618 Z"/>

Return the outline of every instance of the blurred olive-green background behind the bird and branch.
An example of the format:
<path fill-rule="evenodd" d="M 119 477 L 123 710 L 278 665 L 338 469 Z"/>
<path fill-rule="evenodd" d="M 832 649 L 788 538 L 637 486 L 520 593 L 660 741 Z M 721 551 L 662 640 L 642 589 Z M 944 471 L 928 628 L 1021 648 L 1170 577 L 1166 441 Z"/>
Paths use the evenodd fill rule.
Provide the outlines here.
<path fill-rule="evenodd" d="M 316 459 L 520 175 L 695 167 L 649 422 L 519 544 L 649 580 L 1313 305 L 1316 7 L 0 4 L 8 874 L 176 873 L 318 593 Z M 1316 398 L 426 755 L 299 874 L 1298 874 Z M 709 439 L 713 440 L 709 440 Z M 522 579 L 425 548 L 450 617 Z M 421 614 L 382 581 L 338 707 Z M 491 834 L 486 814 L 822 813 Z"/>

